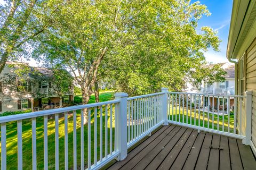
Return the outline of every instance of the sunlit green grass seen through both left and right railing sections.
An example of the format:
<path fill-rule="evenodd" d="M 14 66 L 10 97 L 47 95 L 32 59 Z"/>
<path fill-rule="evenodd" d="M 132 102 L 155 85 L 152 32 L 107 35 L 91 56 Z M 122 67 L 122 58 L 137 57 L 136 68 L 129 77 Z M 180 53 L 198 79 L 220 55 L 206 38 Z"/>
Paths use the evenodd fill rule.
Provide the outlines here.
<path fill-rule="evenodd" d="M 100 94 L 100 101 L 107 101 L 114 98 L 114 92 L 104 92 Z M 91 97 L 89 103 L 94 103 L 94 96 Z M 109 143 L 110 143 L 110 111 L 109 107 L 105 108 L 103 107 L 103 121 L 102 125 L 105 127 L 105 109 L 108 109 L 108 115 L 107 115 L 107 130 L 108 130 L 108 154 L 109 154 Z M 177 111 L 177 114 L 176 114 Z M 113 108 L 114 112 L 114 108 Z M 35 113 L 36 114 L 36 113 Z M 114 114 L 114 113 L 113 113 Z M 183 116 L 184 115 L 184 116 Z M 218 121 L 218 115 L 214 115 L 214 119 L 212 120 L 212 114 L 210 116 L 210 122 L 214 121 L 214 124 Z M 174 120 L 177 117 L 177 120 L 183 122 L 190 123 L 190 110 L 188 110 L 188 119 L 186 111 L 184 114 L 179 114 L 179 109 L 173 110 L 173 117 Z M 196 117 L 196 121 L 195 121 Z M 172 120 L 172 111 L 170 114 L 170 118 Z M 228 117 L 224 116 L 224 125 L 225 125 L 225 131 L 227 130 L 227 121 Z M 207 127 L 207 114 L 205 113 L 205 127 Z M 81 166 L 81 114 L 80 111 L 77 111 L 77 166 Z M 196 124 L 199 124 L 199 117 L 198 112 L 194 112 L 191 110 L 191 124 L 194 124 L 194 121 Z M 100 114 L 99 109 L 97 113 L 97 158 L 99 160 L 100 158 Z M 221 126 L 219 127 L 219 130 L 222 130 L 222 116 L 219 116 L 219 122 Z M 233 131 L 233 123 L 234 123 L 234 117 L 230 116 L 230 132 Z M 63 114 L 59 114 L 59 168 L 64 169 L 65 167 L 65 140 L 64 140 L 64 134 L 65 134 L 65 127 L 64 127 L 64 118 Z M 203 126 L 203 114 L 201 113 L 200 116 L 200 125 Z M 43 139 L 43 117 L 38 117 L 36 119 L 36 135 L 37 135 L 37 169 L 44 169 L 44 139 Z M 54 115 L 49 118 L 48 120 L 48 165 L 49 169 L 55 169 L 55 121 L 54 121 Z M 209 124 L 209 128 L 212 128 L 212 123 Z M 217 126 L 214 125 L 214 129 L 217 128 Z M 17 169 L 18 165 L 18 155 L 17 155 L 17 122 L 10 122 L 6 124 L 7 129 L 7 169 Z M 31 137 L 31 119 L 23 120 L 22 121 L 22 151 L 23 151 L 23 169 L 31 169 L 32 168 L 32 137 Z M 105 128 L 102 129 L 103 134 L 103 142 L 102 142 L 102 152 L 103 157 L 105 156 Z M 113 115 L 113 150 L 114 150 L 114 141 L 115 141 L 115 117 Z M 88 136 L 88 130 L 87 125 L 84 125 L 84 163 L 87 167 L 87 136 Z M 68 114 L 68 161 L 69 161 L 69 168 L 73 167 L 73 114 Z M 94 161 L 94 111 L 92 109 L 91 112 L 91 164 L 93 164 Z"/>

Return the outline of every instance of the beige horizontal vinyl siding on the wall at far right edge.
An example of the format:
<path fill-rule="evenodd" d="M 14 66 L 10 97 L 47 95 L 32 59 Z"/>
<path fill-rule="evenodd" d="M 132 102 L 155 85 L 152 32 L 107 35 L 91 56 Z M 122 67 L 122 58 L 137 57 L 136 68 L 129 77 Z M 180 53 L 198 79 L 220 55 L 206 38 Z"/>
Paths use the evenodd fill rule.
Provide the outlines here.
<path fill-rule="evenodd" d="M 252 142 L 256 145 L 256 39 L 246 53 L 246 90 L 252 91 Z"/>

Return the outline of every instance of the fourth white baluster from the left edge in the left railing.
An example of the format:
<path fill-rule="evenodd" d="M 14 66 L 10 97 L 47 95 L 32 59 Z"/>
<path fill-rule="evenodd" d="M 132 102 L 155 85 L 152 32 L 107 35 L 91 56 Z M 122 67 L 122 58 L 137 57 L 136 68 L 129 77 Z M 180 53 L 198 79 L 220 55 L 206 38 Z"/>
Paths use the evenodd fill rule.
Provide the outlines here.
<path fill-rule="evenodd" d="M 44 116 L 44 169 L 48 169 L 48 116 Z"/>

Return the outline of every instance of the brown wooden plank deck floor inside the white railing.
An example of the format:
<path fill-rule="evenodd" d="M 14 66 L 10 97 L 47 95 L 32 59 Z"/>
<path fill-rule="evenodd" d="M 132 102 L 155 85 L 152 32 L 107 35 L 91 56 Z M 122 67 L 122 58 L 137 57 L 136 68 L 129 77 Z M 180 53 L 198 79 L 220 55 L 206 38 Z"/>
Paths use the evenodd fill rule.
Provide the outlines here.
<path fill-rule="evenodd" d="M 256 169 L 242 140 L 176 125 L 163 126 L 109 169 Z"/>

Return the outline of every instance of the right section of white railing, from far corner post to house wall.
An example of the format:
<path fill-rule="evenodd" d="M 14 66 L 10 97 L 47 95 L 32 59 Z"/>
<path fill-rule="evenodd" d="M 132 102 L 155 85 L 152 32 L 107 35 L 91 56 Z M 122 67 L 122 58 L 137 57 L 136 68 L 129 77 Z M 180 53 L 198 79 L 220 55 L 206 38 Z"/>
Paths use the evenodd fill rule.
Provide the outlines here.
<path fill-rule="evenodd" d="M 168 120 L 170 123 L 244 139 L 245 134 L 241 130 L 243 115 L 237 117 L 237 111 L 242 113 L 245 99 L 246 96 L 237 95 L 169 92 Z"/>

